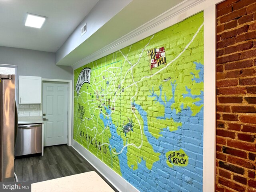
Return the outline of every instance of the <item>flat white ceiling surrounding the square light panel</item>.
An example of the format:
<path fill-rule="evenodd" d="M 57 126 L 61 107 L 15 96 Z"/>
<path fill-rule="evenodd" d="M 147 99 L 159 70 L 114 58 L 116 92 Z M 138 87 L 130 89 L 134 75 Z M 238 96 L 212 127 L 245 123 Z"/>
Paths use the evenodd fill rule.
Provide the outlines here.
<path fill-rule="evenodd" d="M 56 52 L 99 0 L 0 0 L 0 46 Z M 26 13 L 46 16 L 41 29 Z"/>

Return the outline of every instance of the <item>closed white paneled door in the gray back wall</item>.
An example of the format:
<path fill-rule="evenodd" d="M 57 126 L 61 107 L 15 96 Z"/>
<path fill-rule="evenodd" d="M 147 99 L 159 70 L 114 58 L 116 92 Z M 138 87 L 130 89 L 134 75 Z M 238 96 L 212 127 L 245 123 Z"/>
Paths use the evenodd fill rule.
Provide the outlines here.
<path fill-rule="evenodd" d="M 68 84 L 43 82 L 44 146 L 68 142 Z"/>

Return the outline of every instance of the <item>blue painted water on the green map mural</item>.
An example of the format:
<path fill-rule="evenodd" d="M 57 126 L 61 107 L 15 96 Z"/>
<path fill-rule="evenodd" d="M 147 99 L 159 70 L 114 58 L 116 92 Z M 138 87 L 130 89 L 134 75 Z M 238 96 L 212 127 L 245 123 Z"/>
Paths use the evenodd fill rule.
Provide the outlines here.
<path fill-rule="evenodd" d="M 199 78 L 192 79 L 194 83 L 200 83 L 203 81 L 203 65 L 196 63 L 196 69 L 200 70 Z M 161 136 L 156 139 L 148 129 L 148 114 L 142 106 L 134 102 L 134 106 L 143 119 L 143 134 L 146 136 L 148 142 L 152 145 L 154 152 L 160 153 L 160 160 L 153 163 L 152 169 L 149 170 L 146 167 L 146 161 L 141 160 L 138 163 L 138 168 L 133 170 L 128 166 L 127 147 L 124 148 L 121 154 L 118 155 L 120 170 L 122 177 L 130 182 L 140 191 L 150 192 L 202 192 L 202 168 L 203 168 L 203 107 L 200 112 L 192 115 L 191 109 L 184 108 L 181 105 L 182 110 L 176 112 L 176 109 L 172 109 L 170 106 L 175 102 L 174 94 L 176 84 L 170 82 L 170 88 L 172 89 L 172 98 L 167 100 L 165 95 L 165 101 L 162 100 L 162 86 L 160 88 L 160 95 L 154 93 L 154 89 L 150 91 L 150 97 L 154 97 L 156 102 L 159 102 L 164 106 L 165 115 L 157 117 L 158 119 L 170 119 L 175 122 L 181 122 L 182 125 L 178 127 L 178 130 L 170 132 L 169 127 L 163 128 Z M 183 94 L 183 97 L 198 98 L 194 104 L 201 106 L 203 104 L 203 92 L 200 95 L 192 95 L 191 90 L 188 88 L 187 94 Z M 106 109 L 108 114 L 111 114 L 111 110 Z M 111 116 L 108 118 L 103 114 L 100 114 L 100 118 L 104 122 L 104 126 L 110 127 L 111 136 L 114 138 L 109 139 L 109 144 L 112 148 L 116 148 L 116 152 L 120 152 L 124 147 L 124 142 L 120 137 L 120 133 L 117 133 L 117 126 L 113 124 Z M 110 125 L 111 123 L 111 125 Z M 122 132 L 121 132 L 122 133 Z M 188 156 L 188 166 L 169 167 L 166 163 L 166 153 L 169 151 L 184 150 Z M 111 150 L 110 150 L 111 152 Z"/>

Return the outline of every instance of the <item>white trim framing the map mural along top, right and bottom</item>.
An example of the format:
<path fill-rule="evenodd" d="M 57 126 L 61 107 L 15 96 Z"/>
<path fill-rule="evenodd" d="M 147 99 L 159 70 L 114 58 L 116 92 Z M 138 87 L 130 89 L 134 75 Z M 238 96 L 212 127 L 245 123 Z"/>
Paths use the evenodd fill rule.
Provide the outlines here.
<path fill-rule="evenodd" d="M 150 23 L 144 24 L 141 28 L 137 28 L 133 32 L 123 36 L 116 40 L 112 44 L 102 48 L 98 52 L 84 58 L 80 62 L 72 65 L 73 69 L 79 68 L 85 64 L 88 64 L 94 60 L 102 58 L 108 54 L 111 54 L 117 50 L 120 50 L 130 44 L 138 42 L 143 38 L 146 38 L 160 30 L 172 26 L 182 20 L 204 11 L 204 154 L 203 154 L 203 191 L 214 192 L 215 191 L 215 129 L 216 129 L 216 4 L 223 0 L 201 0 L 194 1 L 188 9 L 175 8 L 171 9 L 164 14 L 158 16 L 156 20 L 151 20 Z M 186 1 L 186 3 L 188 3 Z M 180 5 L 181 6 L 181 5 Z M 176 10 L 176 13 L 174 13 Z M 170 14 L 172 12 L 172 14 Z M 160 18 L 168 18 L 164 22 L 158 22 Z M 152 26 L 152 27 L 148 27 Z M 136 34 L 137 33 L 137 34 Z M 74 77 L 74 74 L 73 74 Z M 126 192 L 124 183 L 119 184 L 121 176 L 113 172 L 111 168 L 108 168 L 104 163 L 97 163 L 97 158 L 91 158 L 92 154 L 88 152 L 80 144 L 72 140 L 72 146 L 78 150 L 81 154 L 86 156 L 88 162 L 102 172 L 110 182 L 117 186 L 120 191 Z M 93 156 L 93 155 L 92 155 Z M 100 160 L 99 160 L 100 161 Z M 119 178 L 120 177 L 120 178 Z M 121 186 L 119 186 L 121 185 Z M 124 188 L 121 188 L 124 187 Z M 123 190 L 122 190 L 123 189 Z"/>

